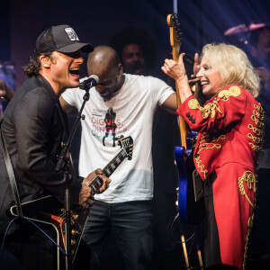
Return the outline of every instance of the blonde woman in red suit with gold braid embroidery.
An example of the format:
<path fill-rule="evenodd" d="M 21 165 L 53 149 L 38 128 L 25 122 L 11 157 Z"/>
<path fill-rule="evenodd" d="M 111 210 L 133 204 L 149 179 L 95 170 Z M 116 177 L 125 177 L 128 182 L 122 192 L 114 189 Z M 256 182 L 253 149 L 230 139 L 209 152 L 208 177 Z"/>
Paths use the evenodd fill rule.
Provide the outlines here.
<path fill-rule="evenodd" d="M 198 131 L 193 160 L 206 210 L 204 264 L 242 268 L 263 137 L 264 112 L 255 99 L 259 79 L 241 49 L 207 44 L 195 63 L 202 94 L 211 96 L 202 105 L 193 97 L 183 57 L 178 63 L 166 59 L 161 68 L 178 85 L 182 105 L 176 112 Z"/>

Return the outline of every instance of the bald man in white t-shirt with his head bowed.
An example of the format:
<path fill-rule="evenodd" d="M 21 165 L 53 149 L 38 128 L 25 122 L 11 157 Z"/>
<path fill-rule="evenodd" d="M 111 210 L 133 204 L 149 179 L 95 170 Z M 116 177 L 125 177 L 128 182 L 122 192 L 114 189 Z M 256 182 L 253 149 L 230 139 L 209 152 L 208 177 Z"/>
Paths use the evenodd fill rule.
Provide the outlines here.
<path fill-rule="evenodd" d="M 85 121 L 81 122 L 80 175 L 86 174 L 86 167 L 105 166 L 119 151 L 113 144 L 112 132 L 105 129 L 104 119 L 109 109 L 115 113 L 116 136 L 131 136 L 134 149 L 132 160 L 124 160 L 112 174 L 110 188 L 96 195 L 84 239 L 99 252 L 112 229 L 126 268 L 149 269 L 152 253 L 153 116 L 157 105 L 175 112 L 175 92 L 152 76 L 123 74 L 116 51 L 106 46 L 96 47 L 89 54 L 87 71 L 89 76 L 99 77 L 99 84 L 90 89 L 90 100 L 85 104 Z M 73 107 L 79 109 L 84 94 L 78 89 L 67 89 L 60 98 L 63 109 L 66 112 Z M 103 144 L 104 137 L 106 144 Z"/>

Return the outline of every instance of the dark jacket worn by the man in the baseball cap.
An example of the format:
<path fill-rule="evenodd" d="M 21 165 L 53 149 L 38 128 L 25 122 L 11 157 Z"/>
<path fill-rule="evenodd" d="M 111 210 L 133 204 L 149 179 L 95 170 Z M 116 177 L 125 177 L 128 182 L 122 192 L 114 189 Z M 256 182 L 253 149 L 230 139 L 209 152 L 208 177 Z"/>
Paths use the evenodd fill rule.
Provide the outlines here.
<path fill-rule="evenodd" d="M 65 176 L 55 170 L 61 142 L 67 139 L 67 116 L 42 76 L 27 79 L 6 107 L 2 130 L 14 166 L 22 202 L 41 194 L 63 198 Z M 70 197 L 78 202 L 81 177 L 69 175 Z M 13 197 L 0 149 L 0 233 L 10 220 L 6 210 Z"/>

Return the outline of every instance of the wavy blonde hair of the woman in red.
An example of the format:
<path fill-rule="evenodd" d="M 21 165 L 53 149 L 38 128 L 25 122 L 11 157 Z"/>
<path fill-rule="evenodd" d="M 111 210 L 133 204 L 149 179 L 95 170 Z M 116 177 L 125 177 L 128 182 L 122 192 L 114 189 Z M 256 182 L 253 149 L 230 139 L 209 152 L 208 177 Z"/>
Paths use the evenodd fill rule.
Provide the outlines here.
<path fill-rule="evenodd" d="M 220 73 L 224 83 L 222 86 L 240 85 L 257 97 L 260 91 L 260 80 L 242 49 L 225 43 L 211 43 L 202 48 L 200 62 L 202 57 L 207 59 L 210 67 Z"/>

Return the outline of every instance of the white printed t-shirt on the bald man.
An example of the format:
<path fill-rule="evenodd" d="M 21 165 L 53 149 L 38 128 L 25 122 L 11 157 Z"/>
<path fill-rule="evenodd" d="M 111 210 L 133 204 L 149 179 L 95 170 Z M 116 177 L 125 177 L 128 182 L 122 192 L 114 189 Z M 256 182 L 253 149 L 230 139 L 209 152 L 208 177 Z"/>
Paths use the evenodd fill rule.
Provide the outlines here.
<path fill-rule="evenodd" d="M 157 104 L 162 105 L 174 90 L 165 82 L 152 76 L 124 74 L 125 81 L 118 94 L 104 102 L 94 87 L 85 104 L 82 138 L 79 154 L 79 175 L 86 176 L 94 169 L 106 166 L 121 148 L 115 141 L 110 127 L 104 121 L 108 109 L 112 108 L 116 137 L 123 135 L 133 139 L 133 156 L 125 158 L 110 176 L 112 183 L 102 194 L 95 194 L 103 202 L 128 202 L 150 200 L 153 197 L 152 171 L 152 124 Z M 84 78 L 85 79 L 85 78 Z M 82 79 L 82 80 L 84 80 Z M 83 103 L 85 91 L 67 89 L 62 97 L 77 109 Z M 107 121 L 108 124 L 109 121 Z M 106 134 L 103 146 L 103 137 Z"/>

